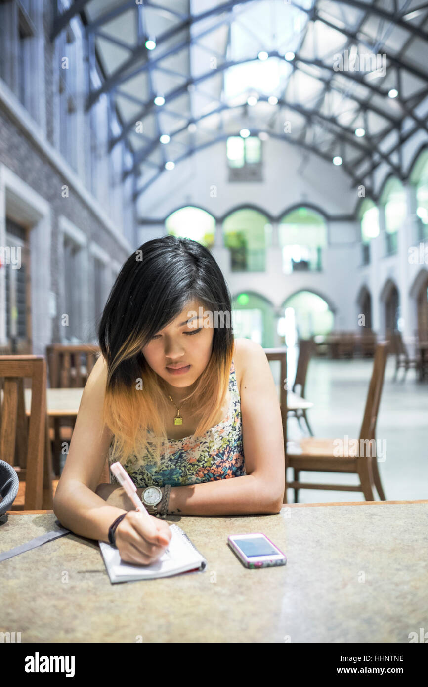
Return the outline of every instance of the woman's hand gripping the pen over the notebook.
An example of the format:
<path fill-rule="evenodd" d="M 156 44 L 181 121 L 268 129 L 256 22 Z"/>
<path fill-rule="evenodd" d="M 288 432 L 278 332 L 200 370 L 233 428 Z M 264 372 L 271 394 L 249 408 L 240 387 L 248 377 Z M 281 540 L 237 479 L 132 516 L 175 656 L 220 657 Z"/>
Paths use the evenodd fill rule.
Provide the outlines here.
<path fill-rule="evenodd" d="M 131 510 L 117 525 L 115 543 L 125 563 L 155 563 L 170 543 L 172 532 L 164 520 Z"/>

